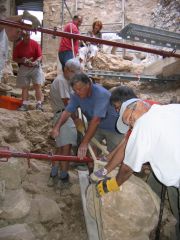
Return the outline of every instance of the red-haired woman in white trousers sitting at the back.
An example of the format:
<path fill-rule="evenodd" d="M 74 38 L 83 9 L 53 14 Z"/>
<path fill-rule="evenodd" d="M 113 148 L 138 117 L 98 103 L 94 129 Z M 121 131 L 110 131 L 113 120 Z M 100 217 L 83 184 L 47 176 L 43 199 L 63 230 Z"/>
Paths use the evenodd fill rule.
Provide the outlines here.
<path fill-rule="evenodd" d="M 92 30 L 88 31 L 87 36 L 94 38 L 102 38 L 102 22 L 96 20 L 93 22 Z M 88 69 L 92 69 L 92 62 L 97 55 L 98 50 L 100 49 L 99 44 L 87 43 L 86 46 L 80 48 L 79 50 L 79 60 L 84 68 L 84 65 L 87 65 Z"/>

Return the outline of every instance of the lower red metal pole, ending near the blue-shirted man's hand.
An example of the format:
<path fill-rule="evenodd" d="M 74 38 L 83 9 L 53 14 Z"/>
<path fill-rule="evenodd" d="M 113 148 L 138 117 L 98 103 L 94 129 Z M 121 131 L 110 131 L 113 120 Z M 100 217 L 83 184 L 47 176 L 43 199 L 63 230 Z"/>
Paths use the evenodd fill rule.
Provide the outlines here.
<path fill-rule="evenodd" d="M 67 162 L 93 162 L 90 157 L 85 157 L 80 160 L 77 156 L 64 156 L 64 155 L 51 155 L 51 154 L 39 154 L 39 153 L 23 153 L 13 152 L 10 150 L 0 150 L 0 158 L 27 158 L 27 159 L 38 159 L 38 160 L 50 160 L 50 161 L 67 161 Z"/>

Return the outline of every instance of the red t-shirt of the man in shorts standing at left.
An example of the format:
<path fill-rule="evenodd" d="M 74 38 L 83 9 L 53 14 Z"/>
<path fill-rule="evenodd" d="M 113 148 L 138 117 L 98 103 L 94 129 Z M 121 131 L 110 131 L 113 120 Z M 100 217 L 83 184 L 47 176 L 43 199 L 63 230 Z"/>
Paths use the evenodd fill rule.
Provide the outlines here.
<path fill-rule="evenodd" d="M 40 45 L 32 39 L 29 39 L 28 43 L 25 43 L 23 40 L 20 41 L 13 50 L 13 59 L 23 57 L 28 59 L 33 58 L 32 62 L 34 62 L 41 56 L 42 51 Z"/>

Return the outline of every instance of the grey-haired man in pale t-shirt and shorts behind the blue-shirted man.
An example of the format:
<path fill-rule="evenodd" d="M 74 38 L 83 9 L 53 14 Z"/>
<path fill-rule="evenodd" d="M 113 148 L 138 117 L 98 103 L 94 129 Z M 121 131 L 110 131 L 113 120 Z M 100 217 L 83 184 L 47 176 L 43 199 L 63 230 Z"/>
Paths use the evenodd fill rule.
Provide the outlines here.
<path fill-rule="evenodd" d="M 62 75 L 56 77 L 51 84 L 50 97 L 54 112 L 54 124 L 61 117 L 67 106 L 72 88 L 70 79 L 75 73 L 81 71 L 81 65 L 77 59 L 70 59 L 66 62 Z M 56 154 L 71 155 L 72 146 L 77 144 L 77 131 L 72 118 L 69 118 L 61 127 L 56 140 Z M 69 180 L 69 162 L 60 162 L 59 183 L 66 183 Z M 54 164 L 51 169 L 48 186 L 53 186 L 58 176 L 58 164 Z"/>

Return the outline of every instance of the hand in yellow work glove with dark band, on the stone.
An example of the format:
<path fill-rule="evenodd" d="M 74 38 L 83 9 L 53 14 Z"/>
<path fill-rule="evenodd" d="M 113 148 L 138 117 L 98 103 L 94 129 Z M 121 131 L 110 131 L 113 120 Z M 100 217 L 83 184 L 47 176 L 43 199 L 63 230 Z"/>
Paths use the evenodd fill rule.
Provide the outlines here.
<path fill-rule="evenodd" d="M 105 193 L 119 191 L 119 186 L 115 178 L 106 178 L 97 183 L 96 189 L 98 196 L 102 197 Z"/>

